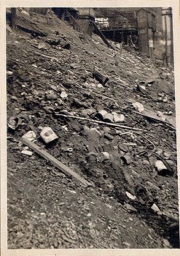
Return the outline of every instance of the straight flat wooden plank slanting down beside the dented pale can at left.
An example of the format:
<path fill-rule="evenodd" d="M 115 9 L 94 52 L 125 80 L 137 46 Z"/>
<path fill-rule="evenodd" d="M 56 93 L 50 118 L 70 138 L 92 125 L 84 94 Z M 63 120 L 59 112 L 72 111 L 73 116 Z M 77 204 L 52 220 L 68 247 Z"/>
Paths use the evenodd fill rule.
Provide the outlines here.
<path fill-rule="evenodd" d="M 47 161 L 50 161 L 52 165 L 55 165 L 55 167 L 58 167 L 58 169 L 62 170 L 63 173 L 66 173 L 68 176 L 72 176 L 75 180 L 81 182 L 85 187 L 92 186 L 90 182 L 86 181 L 85 178 L 82 178 L 77 173 L 75 173 L 73 170 L 71 170 L 66 165 L 63 165 L 62 162 L 60 162 L 58 159 L 55 159 L 55 157 L 52 157 L 47 151 L 44 151 L 42 148 L 37 146 L 35 143 L 31 142 L 30 140 L 27 140 L 25 138 L 20 138 L 20 141 L 24 143 L 29 148 L 33 149 L 37 154 L 44 157 L 44 159 L 47 159 Z"/>

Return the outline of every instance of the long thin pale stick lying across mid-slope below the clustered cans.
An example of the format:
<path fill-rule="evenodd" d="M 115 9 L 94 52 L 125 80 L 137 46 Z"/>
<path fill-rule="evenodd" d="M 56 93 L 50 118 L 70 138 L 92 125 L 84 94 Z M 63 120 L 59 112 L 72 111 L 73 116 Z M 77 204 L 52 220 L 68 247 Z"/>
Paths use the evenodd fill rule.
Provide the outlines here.
<path fill-rule="evenodd" d="M 55 114 L 55 116 L 62 116 L 62 117 L 66 117 L 66 118 L 75 118 L 75 119 L 79 119 L 79 120 L 85 120 L 85 121 L 91 121 L 93 123 L 96 123 L 96 124 L 106 124 L 106 125 L 109 125 L 110 127 L 119 127 L 121 129 L 133 129 L 135 131 L 144 131 L 144 132 L 147 132 L 146 129 L 138 129 L 138 128 L 135 128 L 135 127 L 125 127 L 124 125 L 120 125 L 120 124 L 111 124 L 111 123 L 107 123 L 107 122 L 104 122 L 104 121 L 98 121 L 98 120 L 93 120 L 93 119 L 88 119 L 88 118 L 84 118 L 84 117 L 79 117 L 79 116 L 66 116 L 66 115 L 63 115 L 63 114 Z"/>

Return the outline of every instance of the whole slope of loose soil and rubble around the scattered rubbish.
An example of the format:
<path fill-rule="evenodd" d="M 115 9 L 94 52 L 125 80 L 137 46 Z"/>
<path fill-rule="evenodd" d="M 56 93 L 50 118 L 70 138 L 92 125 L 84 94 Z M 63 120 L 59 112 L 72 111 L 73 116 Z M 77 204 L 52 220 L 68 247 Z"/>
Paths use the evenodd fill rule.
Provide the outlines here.
<path fill-rule="evenodd" d="M 7 123 L 11 117 L 21 120 L 7 130 L 8 249 L 179 248 L 176 131 L 171 124 L 139 115 L 132 104 L 141 102 L 154 113 L 174 117 L 173 69 L 128 48 L 120 56 L 115 45 L 111 50 L 95 34 L 93 42 L 85 39 L 53 12 L 48 19 L 18 15 L 47 36 L 7 29 Z M 109 77 L 105 85 L 93 78 L 94 67 Z M 139 93 L 136 85 L 149 78 L 147 93 Z M 113 124 L 139 130 L 54 111 L 98 121 L 97 105 L 125 116 Z M 47 146 L 40 126 L 51 127 L 58 141 Z M 25 148 L 19 138 L 30 130 L 36 133 L 36 145 L 92 186 L 84 187 Z M 153 145 L 173 176 L 158 175 L 149 157 Z M 23 149 L 32 155 L 22 154 Z M 98 162 L 103 151 L 110 157 Z M 129 165 L 121 159 L 127 152 Z"/>

